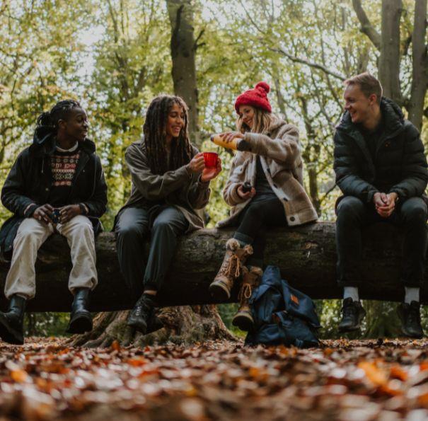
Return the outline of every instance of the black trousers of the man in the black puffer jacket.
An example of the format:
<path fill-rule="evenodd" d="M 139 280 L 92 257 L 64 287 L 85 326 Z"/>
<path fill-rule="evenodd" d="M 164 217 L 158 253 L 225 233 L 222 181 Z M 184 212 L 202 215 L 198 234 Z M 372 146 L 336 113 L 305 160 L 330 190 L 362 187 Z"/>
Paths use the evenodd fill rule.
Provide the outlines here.
<path fill-rule="evenodd" d="M 362 259 L 362 229 L 375 222 L 386 222 L 404 229 L 401 280 L 406 287 L 420 287 L 424 278 L 427 252 L 427 204 L 422 197 L 398 202 L 390 217 L 382 218 L 374 204 L 345 196 L 337 206 L 337 282 L 343 287 L 359 285 L 358 265 Z"/>

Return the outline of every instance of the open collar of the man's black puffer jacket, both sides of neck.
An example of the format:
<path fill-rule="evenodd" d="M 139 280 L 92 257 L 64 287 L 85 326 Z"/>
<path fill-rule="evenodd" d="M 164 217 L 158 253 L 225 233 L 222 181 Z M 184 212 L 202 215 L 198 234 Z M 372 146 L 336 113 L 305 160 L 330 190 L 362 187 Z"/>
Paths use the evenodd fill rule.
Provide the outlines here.
<path fill-rule="evenodd" d="M 381 113 L 383 122 L 385 123 L 386 134 L 392 134 L 404 127 L 404 114 L 401 108 L 393 102 L 393 100 L 382 97 L 381 99 Z M 351 134 L 358 130 L 358 126 L 351 120 L 349 111 L 345 111 L 342 115 L 340 123 L 336 127 L 337 130 L 342 130 L 347 134 Z"/>

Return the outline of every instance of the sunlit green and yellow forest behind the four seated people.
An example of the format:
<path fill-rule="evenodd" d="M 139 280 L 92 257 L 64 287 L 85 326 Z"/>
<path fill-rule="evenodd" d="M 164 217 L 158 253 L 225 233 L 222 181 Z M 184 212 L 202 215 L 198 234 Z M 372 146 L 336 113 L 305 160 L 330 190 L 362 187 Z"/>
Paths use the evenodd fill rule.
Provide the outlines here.
<path fill-rule="evenodd" d="M 265 80 L 273 110 L 300 129 L 305 187 L 320 219 L 333 221 L 339 195 L 333 133 L 343 112 L 343 81 L 370 71 L 386 96 L 428 133 L 427 0 L 0 0 L 0 184 L 32 142 L 37 115 L 76 98 L 88 112 L 108 182 L 106 230 L 130 191 L 125 149 L 141 137 L 158 93 L 190 106 L 190 134 L 235 127 L 233 101 Z M 212 183 L 209 225 L 229 209 Z M 0 219 L 8 217 L 0 208 Z M 366 302 L 364 335 L 396 335 L 395 305 Z M 323 336 L 335 337 L 340 301 L 319 301 Z M 230 325 L 231 306 L 221 306 Z M 427 311 L 424 325 L 428 328 Z M 28 315 L 28 333 L 55 335 L 66 316 Z"/>

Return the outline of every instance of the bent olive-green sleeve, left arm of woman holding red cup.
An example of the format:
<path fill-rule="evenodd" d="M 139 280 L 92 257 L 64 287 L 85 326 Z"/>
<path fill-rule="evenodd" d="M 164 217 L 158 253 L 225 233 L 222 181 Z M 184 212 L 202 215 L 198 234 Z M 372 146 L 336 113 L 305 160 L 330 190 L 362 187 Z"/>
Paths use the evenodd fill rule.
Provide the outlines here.
<path fill-rule="evenodd" d="M 132 183 L 141 195 L 149 200 L 166 197 L 175 190 L 183 188 L 190 179 L 185 166 L 163 175 L 151 172 L 147 158 L 137 144 L 132 144 L 125 152 L 125 161 L 131 172 Z"/>

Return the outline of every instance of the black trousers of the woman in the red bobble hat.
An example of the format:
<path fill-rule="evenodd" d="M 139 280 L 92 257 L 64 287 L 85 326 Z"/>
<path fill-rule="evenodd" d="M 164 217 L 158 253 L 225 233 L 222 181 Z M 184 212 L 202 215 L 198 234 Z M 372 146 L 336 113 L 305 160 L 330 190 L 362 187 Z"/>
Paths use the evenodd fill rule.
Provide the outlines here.
<path fill-rule="evenodd" d="M 239 226 L 233 238 L 253 245 L 253 254 L 247 259 L 247 264 L 262 267 L 266 229 L 287 224 L 284 205 L 277 197 L 259 199 L 255 196 L 239 214 L 238 223 Z"/>

